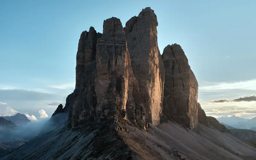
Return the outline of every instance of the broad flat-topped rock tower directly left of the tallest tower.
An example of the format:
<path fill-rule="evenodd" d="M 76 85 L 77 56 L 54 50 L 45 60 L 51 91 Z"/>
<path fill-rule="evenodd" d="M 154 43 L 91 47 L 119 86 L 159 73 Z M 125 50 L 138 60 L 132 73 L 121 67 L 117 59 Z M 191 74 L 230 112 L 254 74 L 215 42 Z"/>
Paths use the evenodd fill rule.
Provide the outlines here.
<path fill-rule="evenodd" d="M 146 124 L 137 80 L 132 73 L 130 54 L 120 19 L 112 17 L 103 23 L 103 35 L 98 40 L 95 91 L 96 115 L 103 120 Z M 142 109 L 142 110 L 141 110 Z M 137 117 L 137 120 L 136 120 Z"/>

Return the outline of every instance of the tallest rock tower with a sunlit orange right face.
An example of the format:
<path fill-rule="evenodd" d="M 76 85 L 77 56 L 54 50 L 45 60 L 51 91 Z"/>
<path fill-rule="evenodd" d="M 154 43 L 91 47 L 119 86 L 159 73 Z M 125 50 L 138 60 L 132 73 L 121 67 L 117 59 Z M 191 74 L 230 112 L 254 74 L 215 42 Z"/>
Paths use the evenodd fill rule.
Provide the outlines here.
<path fill-rule="evenodd" d="M 163 115 L 164 66 L 157 44 L 156 14 L 150 7 L 125 24 L 131 66 L 149 122 L 158 125 Z"/>

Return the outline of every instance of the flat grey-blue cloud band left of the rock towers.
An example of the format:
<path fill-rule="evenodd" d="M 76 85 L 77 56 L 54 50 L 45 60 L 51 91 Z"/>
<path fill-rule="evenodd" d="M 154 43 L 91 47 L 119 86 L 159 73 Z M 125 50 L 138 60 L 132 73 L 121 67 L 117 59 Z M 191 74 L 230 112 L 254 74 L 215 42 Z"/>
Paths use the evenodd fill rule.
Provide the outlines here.
<path fill-rule="evenodd" d="M 0 90 L 0 100 L 54 100 L 55 94 L 24 89 Z"/>

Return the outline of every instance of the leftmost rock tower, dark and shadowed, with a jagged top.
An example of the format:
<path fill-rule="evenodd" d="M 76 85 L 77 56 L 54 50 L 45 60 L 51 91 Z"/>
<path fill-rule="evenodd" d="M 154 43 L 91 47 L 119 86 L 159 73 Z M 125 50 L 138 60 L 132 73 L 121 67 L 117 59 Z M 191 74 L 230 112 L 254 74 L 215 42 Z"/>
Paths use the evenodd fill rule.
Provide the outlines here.
<path fill-rule="evenodd" d="M 96 43 L 101 35 L 91 27 L 89 32 L 82 32 L 79 39 L 76 54 L 76 89 L 68 118 L 68 125 L 71 128 L 82 127 L 95 118 Z"/>

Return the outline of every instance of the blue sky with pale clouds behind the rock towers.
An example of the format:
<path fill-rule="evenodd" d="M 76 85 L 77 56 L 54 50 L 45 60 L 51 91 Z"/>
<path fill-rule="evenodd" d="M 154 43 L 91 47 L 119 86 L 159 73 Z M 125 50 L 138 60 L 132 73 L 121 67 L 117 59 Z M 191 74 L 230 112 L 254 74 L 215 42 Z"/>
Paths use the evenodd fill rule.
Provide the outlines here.
<path fill-rule="evenodd" d="M 0 1 L 0 115 L 40 118 L 43 109 L 51 116 L 75 88 L 81 32 L 93 26 L 102 33 L 103 21 L 111 17 L 124 27 L 151 7 L 160 52 L 168 44 L 181 45 L 206 114 L 253 118 L 255 6 L 255 0 Z"/>

